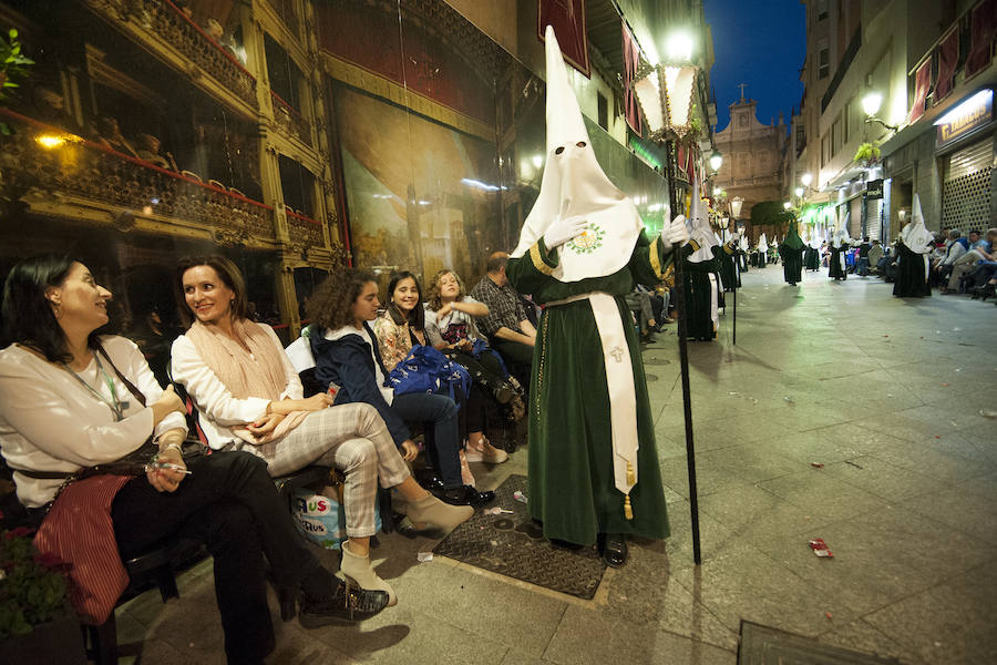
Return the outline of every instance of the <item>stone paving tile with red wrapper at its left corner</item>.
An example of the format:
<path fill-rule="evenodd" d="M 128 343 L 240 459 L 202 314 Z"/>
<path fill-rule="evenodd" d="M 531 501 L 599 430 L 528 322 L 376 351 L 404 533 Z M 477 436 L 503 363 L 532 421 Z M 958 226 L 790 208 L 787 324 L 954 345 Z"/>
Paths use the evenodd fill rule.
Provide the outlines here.
<path fill-rule="evenodd" d="M 821 538 L 834 559 L 814 556 Z M 813 529 L 782 562 L 814 589 L 866 614 L 991 557 L 990 546 L 913 510 L 893 505 Z"/>

